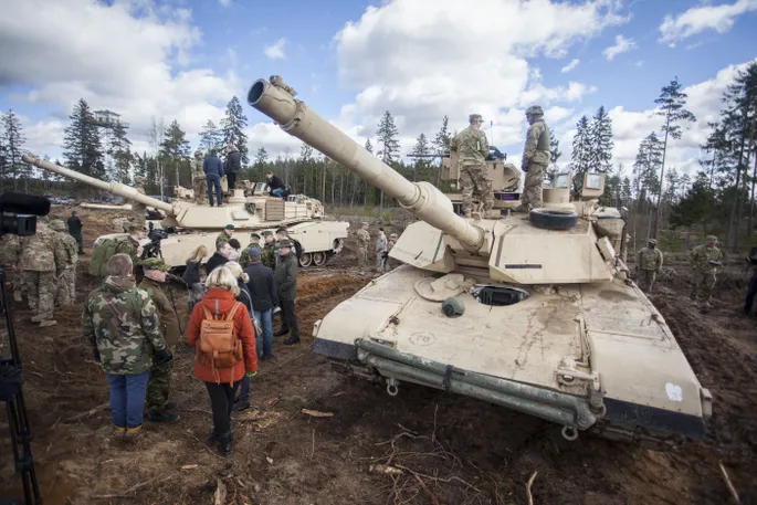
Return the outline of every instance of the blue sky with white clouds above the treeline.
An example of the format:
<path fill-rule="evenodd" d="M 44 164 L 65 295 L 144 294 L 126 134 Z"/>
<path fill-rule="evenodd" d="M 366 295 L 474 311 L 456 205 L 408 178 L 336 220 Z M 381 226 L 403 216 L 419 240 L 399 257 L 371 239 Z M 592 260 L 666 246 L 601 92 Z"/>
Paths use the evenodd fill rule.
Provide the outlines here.
<path fill-rule="evenodd" d="M 677 76 L 697 122 L 666 165 L 693 175 L 723 91 L 757 57 L 757 0 L 8 0 L 0 51 L 0 109 L 20 115 L 38 156 L 60 156 L 80 98 L 120 114 L 149 151 L 154 118 L 177 119 L 196 148 L 236 95 L 250 152 L 295 157 L 299 140 L 246 105 L 277 74 L 361 145 L 389 111 L 403 156 L 444 115 L 461 130 L 477 113 L 519 166 L 536 104 L 567 164 L 577 120 L 603 105 L 629 175 Z"/>

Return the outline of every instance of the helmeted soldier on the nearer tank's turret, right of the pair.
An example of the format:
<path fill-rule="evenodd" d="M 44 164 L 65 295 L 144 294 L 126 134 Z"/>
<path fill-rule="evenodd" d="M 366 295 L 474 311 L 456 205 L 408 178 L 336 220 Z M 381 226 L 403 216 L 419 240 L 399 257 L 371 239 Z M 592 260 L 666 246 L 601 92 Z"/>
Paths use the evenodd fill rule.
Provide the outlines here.
<path fill-rule="evenodd" d="M 544 171 L 550 160 L 550 138 L 549 128 L 544 122 L 544 112 L 538 105 L 532 105 L 526 109 L 528 120 L 528 133 L 526 134 L 526 146 L 523 149 L 523 161 L 521 170 L 526 173 L 521 196 L 521 207 L 518 210 L 537 209 L 544 204 L 542 199 L 542 185 L 544 182 Z"/>

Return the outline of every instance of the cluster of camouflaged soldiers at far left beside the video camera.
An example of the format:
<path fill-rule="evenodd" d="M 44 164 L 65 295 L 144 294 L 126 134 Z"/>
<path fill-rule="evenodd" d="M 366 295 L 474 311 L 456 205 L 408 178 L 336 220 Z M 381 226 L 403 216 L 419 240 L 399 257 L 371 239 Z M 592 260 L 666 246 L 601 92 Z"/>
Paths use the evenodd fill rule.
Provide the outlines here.
<path fill-rule="evenodd" d="M 78 220 L 75 214 L 72 218 Z M 31 320 L 42 328 L 56 324 L 56 306 L 72 305 L 76 298 L 76 263 L 83 252 L 78 243 L 81 228 L 80 240 L 74 236 L 75 230 L 72 233 L 63 220 L 38 218 L 35 234 L 2 238 L 2 264 L 14 273 L 13 297 L 22 302 L 23 294 L 27 295 L 33 313 Z"/>

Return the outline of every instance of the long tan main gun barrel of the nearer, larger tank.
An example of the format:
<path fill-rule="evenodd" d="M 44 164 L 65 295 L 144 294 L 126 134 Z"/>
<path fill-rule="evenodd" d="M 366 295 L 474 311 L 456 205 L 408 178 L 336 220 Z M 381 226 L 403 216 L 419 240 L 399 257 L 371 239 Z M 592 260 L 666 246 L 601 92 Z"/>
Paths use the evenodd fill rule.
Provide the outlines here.
<path fill-rule="evenodd" d="M 251 107 L 272 118 L 287 134 L 319 150 L 368 183 L 397 199 L 399 204 L 438 230 L 454 236 L 471 251 L 484 243 L 484 232 L 455 214 L 452 202 L 429 182 L 410 182 L 303 102 L 281 77 L 257 80 L 248 92 Z"/>

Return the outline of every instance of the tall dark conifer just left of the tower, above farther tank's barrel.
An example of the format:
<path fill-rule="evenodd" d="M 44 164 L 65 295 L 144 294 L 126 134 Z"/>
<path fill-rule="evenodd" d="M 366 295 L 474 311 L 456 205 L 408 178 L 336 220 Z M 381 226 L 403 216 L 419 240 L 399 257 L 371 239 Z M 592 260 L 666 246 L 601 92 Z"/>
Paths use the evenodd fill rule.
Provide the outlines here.
<path fill-rule="evenodd" d="M 95 179 L 105 180 L 103 148 L 95 116 L 90 105 L 81 98 L 69 116 L 71 125 L 65 128 L 63 157 L 66 166 Z"/>

